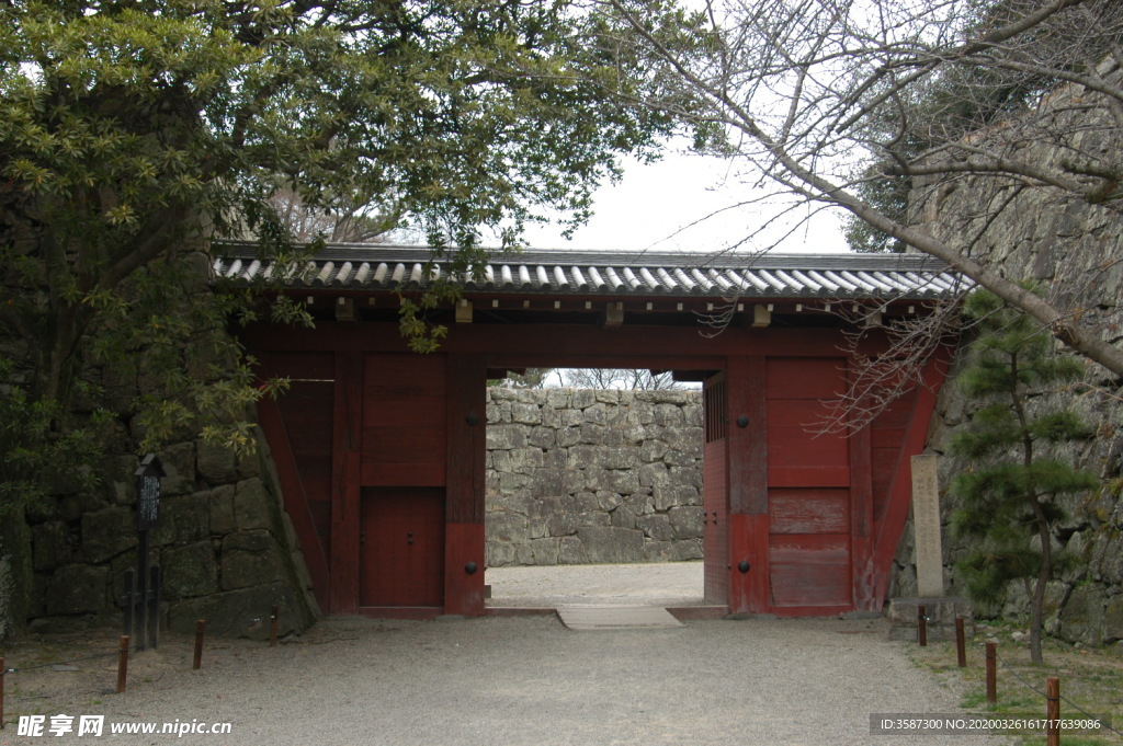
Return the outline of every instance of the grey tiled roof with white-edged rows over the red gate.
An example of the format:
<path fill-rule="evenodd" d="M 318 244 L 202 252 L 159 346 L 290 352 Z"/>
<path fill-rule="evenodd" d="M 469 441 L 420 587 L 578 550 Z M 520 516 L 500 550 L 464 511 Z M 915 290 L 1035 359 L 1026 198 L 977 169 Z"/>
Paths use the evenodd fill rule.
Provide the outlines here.
<path fill-rule="evenodd" d="M 274 276 L 252 247 L 220 251 L 214 271 L 236 282 Z M 291 289 L 340 292 L 417 291 L 428 284 L 429 249 L 381 245 L 329 245 L 300 271 Z M 436 263 L 435 275 L 446 271 Z M 480 279 L 458 278 L 465 292 L 533 295 L 684 297 L 893 297 L 950 298 L 969 280 L 922 254 L 705 254 L 540 251 L 497 254 Z"/>

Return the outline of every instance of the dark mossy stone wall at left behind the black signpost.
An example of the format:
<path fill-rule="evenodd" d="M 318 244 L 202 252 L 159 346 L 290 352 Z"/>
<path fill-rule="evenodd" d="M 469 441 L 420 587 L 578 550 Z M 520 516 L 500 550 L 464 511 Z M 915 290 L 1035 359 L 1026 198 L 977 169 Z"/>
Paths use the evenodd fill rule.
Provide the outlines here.
<path fill-rule="evenodd" d="M 167 476 L 149 541 L 165 628 L 189 633 L 206 619 L 211 634 L 266 637 L 273 605 L 283 633 L 308 627 L 319 610 L 267 454 L 236 460 L 186 442 L 158 455 Z M 52 498 L 31 516 L 31 632 L 121 624 L 125 571 L 137 563 L 137 464 L 119 457 L 102 489 Z"/>

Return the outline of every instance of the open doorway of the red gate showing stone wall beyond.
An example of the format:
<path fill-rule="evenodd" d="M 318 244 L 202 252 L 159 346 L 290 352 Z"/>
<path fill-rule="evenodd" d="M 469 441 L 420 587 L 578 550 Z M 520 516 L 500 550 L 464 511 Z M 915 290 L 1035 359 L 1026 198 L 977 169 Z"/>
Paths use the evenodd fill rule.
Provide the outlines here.
<path fill-rule="evenodd" d="M 487 606 L 705 606 L 700 385 L 528 374 L 487 392 Z"/>

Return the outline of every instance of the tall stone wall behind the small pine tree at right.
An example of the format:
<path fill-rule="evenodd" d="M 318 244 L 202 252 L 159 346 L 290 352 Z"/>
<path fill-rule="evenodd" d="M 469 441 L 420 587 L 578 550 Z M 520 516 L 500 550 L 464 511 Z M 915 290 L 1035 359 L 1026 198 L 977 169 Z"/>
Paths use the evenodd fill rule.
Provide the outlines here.
<path fill-rule="evenodd" d="M 1088 96 L 1089 92 L 1079 86 L 1068 86 L 1042 105 L 1051 108 L 1058 118 L 1084 118 L 1072 131 L 1079 132 L 1077 137 L 1086 150 L 1099 147 L 1104 153 L 1117 153 L 1123 147 L 1123 135 L 1105 118 L 1105 111 L 1097 113 L 1089 105 Z M 997 128 L 994 132 L 996 147 L 1008 148 L 1008 157 L 1041 164 L 1063 157 L 1047 142 L 1024 138 L 1003 142 L 1001 138 L 1012 129 L 1016 130 Z M 988 135 L 979 137 L 985 140 Z M 980 205 L 988 209 L 980 210 Z M 1004 209 L 989 209 L 993 205 Z M 1059 199 L 1054 192 L 1024 188 L 1008 181 L 964 176 L 946 184 L 917 184 L 914 206 L 922 229 L 952 245 L 961 237 L 978 236 L 970 248 L 973 255 L 1001 267 L 1006 277 L 1038 280 L 1058 307 L 1098 328 L 1105 340 L 1115 344 L 1123 341 L 1123 219 L 1111 203 L 1096 204 L 1075 196 Z M 940 396 L 929 436 L 928 448 L 941 454 L 970 415 L 956 385 L 962 354 L 964 350 Z M 1072 562 L 1049 589 L 1047 630 L 1071 642 L 1123 639 L 1123 407 L 1117 392 L 1119 383 L 1093 365 L 1084 386 L 1043 392 L 1038 397 L 1038 404 L 1059 397 L 1084 415 L 1095 435 L 1067 445 L 1057 455 L 1094 471 L 1104 482 L 1102 489 L 1068 500 L 1072 517 L 1057 526 L 1053 535 L 1054 547 Z M 946 487 L 966 467 L 965 461 L 950 455 L 940 459 L 946 578 L 951 593 L 961 592 L 953 562 L 967 546 L 948 527 L 956 505 Z M 910 525 L 898 549 L 891 596 L 915 595 L 912 541 Z M 980 616 L 1025 619 L 1028 607 L 1024 587 L 1012 583 L 1002 601 L 978 611 Z"/>

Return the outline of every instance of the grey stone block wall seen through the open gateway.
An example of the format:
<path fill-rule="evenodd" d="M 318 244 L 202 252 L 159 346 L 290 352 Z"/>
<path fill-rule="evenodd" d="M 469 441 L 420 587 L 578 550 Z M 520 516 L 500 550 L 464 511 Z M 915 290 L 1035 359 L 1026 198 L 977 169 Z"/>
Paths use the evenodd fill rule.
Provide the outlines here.
<path fill-rule="evenodd" d="M 699 392 L 489 389 L 487 564 L 702 558 Z"/>

